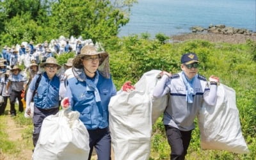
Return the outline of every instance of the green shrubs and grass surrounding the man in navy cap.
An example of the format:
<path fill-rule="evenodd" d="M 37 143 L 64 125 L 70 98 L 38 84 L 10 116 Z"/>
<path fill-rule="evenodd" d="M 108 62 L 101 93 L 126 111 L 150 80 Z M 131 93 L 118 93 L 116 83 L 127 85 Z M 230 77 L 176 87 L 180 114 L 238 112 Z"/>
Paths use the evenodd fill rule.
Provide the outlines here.
<path fill-rule="evenodd" d="M 110 54 L 111 73 L 117 88 L 125 81 L 136 83 L 152 69 L 172 73 L 180 71 L 180 56 L 184 52 L 196 52 L 200 59 L 200 74 L 220 77 L 221 83 L 236 90 L 237 108 L 243 136 L 250 154 L 232 154 L 227 151 L 201 150 L 198 127 L 193 131 L 187 159 L 253 159 L 256 157 L 256 42 L 246 44 L 214 44 L 204 40 L 193 40 L 179 44 L 164 44 L 148 40 L 145 35 L 133 35 L 122 39 L 105 41 Z M 153 127 L 151 159 L 169 159 L 170 147 L 165 138 L 160 117 Z"/>

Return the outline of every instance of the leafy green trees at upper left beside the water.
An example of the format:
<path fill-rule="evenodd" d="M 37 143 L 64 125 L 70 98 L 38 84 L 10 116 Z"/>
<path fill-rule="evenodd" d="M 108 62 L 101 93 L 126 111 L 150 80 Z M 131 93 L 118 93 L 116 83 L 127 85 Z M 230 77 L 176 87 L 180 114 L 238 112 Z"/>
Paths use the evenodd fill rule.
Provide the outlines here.
<path fill-rule="evenodd" d="M 94 42 L 116 36 L 136 0 L 0 1 L 0 45 L 83 36 Z"/>

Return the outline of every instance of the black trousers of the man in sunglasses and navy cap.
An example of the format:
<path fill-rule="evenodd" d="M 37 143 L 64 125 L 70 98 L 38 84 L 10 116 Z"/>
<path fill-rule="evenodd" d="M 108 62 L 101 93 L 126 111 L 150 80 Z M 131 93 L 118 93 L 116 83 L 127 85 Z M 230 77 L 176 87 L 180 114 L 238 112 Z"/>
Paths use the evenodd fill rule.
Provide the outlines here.
<path fill-rule="evenodd" d="M 166 137 L 171 147 L 170 159 L 185 159 L 192 131 L 180 131 L 170 125 L 164 125 Z"/>

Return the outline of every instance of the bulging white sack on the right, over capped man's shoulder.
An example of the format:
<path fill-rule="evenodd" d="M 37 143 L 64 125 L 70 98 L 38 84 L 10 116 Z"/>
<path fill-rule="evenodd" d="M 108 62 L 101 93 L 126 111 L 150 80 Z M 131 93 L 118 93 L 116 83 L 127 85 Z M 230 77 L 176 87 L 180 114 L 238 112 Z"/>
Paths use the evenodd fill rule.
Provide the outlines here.
<path fill-rule="evenodd" d="M 202 149 L 249 153 L 241 132 L 236 92 L 232 88 L 224 84 L 218 86 L 216 105 L 209 106 L 204 102 L 198 124 Z"/>

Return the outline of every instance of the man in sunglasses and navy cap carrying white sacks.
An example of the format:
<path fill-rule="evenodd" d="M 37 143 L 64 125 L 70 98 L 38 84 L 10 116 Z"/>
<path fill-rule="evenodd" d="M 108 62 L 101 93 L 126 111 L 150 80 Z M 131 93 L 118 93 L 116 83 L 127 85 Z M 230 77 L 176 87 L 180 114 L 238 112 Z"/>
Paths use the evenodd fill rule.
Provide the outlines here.
<path fill-rule="evenodd" d="M 211 106 L 216 104 L 220 83 L 218 77 L 211 76 L 208 84 L 207 79 L 198 74 L 199 61 L 195 53 L 183 54 L 180 61 L 182 72 L 172 76 L 161 72 L 162 78 L 153 92 L 154 97 L 170 94 L 163 118 L 172 150 L 170 159 L 185 159 L 198 109 L 204 101 Z"/>

